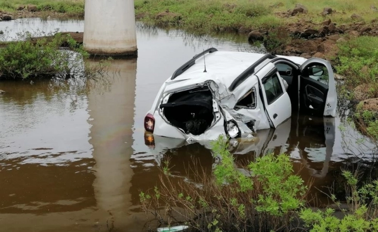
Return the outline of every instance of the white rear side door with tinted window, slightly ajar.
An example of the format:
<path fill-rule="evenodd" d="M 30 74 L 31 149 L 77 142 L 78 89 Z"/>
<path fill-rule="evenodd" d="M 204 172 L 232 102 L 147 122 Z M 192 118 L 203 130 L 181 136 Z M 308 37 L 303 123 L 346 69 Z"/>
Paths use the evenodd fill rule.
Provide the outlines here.
<path fill-rule="evenodd" d="M 291 116 L 290 98 L 276 67 L 260 80 L 265 110 L 276 128 Z"/>

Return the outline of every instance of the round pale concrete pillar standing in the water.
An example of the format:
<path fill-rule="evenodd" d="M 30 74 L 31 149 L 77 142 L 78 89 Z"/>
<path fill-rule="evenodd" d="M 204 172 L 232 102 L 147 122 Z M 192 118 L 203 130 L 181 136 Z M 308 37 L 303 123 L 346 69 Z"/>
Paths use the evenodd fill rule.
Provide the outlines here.
<path fill-rule="evenodd" d="M 85 0 L 83 46 L 92 55 L 136 55 L 134 0 Z"/>

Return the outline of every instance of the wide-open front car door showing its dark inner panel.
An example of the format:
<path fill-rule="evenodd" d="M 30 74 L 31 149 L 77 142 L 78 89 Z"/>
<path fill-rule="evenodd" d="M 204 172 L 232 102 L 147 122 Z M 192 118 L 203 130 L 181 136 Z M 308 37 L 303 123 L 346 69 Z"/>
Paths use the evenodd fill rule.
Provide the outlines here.
<path fill-rule="evenodd" d="M 330 62 L 310 58 L 300 66 L 299 110 L 316 116 L 336 115 L 336 84 Z"/>

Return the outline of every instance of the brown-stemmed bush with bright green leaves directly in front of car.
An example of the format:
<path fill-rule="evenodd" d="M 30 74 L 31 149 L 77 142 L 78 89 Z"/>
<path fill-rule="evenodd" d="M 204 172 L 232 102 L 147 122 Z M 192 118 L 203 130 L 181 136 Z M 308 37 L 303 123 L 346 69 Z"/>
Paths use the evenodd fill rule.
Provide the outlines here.
<path fill-rule="evenodd" d="M 302 179 L 293 173 L 290 159 L 269 154 L 248 165 L 250 174 L 242 174 L 226 149 L 226 140 L 219 138 L 212 145 L 221 159 L 214 175 L 206 176 L 196 168 L 195 187 L 177 180 L 164 167 L 159 187 L 153 193 L 140 193 L 146 215 L 166 225 L 181 222 L 198 231 L 289 230 L 307 192 Z"/>

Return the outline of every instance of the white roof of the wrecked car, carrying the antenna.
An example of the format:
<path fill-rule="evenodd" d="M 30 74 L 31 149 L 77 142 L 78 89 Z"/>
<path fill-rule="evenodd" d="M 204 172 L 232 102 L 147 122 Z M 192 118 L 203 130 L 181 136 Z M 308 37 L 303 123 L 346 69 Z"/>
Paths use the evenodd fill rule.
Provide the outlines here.
<path fill-rule="evenodd" d="M 212 51 L 206 53 L 208 50 Z M 286 58 L 299 65 L 307 60 L 306 58 L 293 56 L 271 56 L 270 54 L 267 55 L 251 52 L 218 51 L 215 48 L 210 48 L 208 50 L 204 52 L 205 55 L 200 53 L 196 55 L 198 58 L 195 56 L 190 60 L 193 61 L 192 66 L 184 69 L 181 74 L 176 74 L 177 71 L 173 73 L 173 77 L 168 80 L 168 82 L 171 82 L 171 86 L 167 87 L 166 90 L 169 91 L 174 88 L 213 80 L 216 83 L 223 84 L 226 88 L 230 88 L 230 90 L 233 91 L 238 84 L 241 84 L 246 79 L 246 77 L 252 81 L 253 85 L 257 83 L 258 79 L 255 76 L 252 76 L 252 74 L 272 61 L 273 58 Z M 205 64 L 206 72 L 204 72 Z M 185 65 L 180 67 L 179 70 L 183 67 L 185 67 Z M 245 73 L 248 69 L 252 72 Z M 238 80 L 236 80 L 236 78 Z M 254 80 L 251 78 L 254 78 Z"/>

